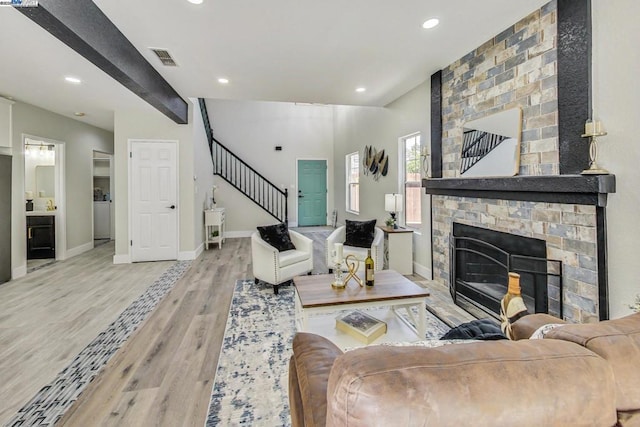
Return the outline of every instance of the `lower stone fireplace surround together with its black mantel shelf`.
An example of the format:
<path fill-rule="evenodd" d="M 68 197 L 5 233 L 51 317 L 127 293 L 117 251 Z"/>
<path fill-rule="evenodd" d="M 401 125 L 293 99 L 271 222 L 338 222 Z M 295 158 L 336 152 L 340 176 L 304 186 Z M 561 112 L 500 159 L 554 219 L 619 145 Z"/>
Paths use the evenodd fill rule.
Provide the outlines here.
<path fill-rule="evenodd" d="M 454 222 L 539 239 L 546 258 L 562 263 L 562 316 L 581 323 L 607 317 L 604 205 L 607 193 L 615 191 L 614 176 L 425 181 L 432 194 L 434 280 L 451 285 Z"/>

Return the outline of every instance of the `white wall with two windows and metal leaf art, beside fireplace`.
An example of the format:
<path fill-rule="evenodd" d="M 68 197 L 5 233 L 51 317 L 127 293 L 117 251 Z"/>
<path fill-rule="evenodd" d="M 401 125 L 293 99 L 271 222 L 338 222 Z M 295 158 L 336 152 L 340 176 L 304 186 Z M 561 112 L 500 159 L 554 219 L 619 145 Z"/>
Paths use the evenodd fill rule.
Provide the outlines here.
<path fill-rule="evenodd" d="M 423 146 L 430 146 L 430 83 L 425 81 L 386 108 L 336 106 L 335 109 L 335 203 L 338 223 L 347 219 L 377 219 L 379 225 L 389 214 L 384 210 L 384 195 L 398 192 L 399 138 L 420 132 Z M 345 209 L 345 156 L 359 152 L 365 145 L 384 149 L 389 155 L 389 172 L 378 181 L 360 175 L 360 214 Z M 362 159 L 362 157 L 361 157 Z M 415 271 L 431 277 L 431 217 L 429 197 L 422 194 L 422 229 L 414 233 Z"/>

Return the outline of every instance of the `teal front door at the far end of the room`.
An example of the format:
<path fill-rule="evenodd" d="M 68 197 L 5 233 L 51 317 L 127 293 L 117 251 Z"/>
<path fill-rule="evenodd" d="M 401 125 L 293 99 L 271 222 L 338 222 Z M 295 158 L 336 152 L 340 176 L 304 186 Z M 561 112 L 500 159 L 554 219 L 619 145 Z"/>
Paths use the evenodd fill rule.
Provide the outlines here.
<path fill-rule="evenodd" d="M 327 225 L 327 161 L 298 160 L 298 225 Z"/>

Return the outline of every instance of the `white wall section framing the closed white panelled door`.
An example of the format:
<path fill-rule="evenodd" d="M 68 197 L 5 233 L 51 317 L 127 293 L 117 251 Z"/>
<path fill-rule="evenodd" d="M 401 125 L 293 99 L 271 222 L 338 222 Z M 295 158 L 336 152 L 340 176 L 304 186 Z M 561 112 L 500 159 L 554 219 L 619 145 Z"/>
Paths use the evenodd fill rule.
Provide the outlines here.
<path fill-rule="evenodd" d="M 191 259 L 196 255 L 194 239 L 194 131 L 193 105 L 189 105 L 189 124 L 178 125 L 151 106 L 135 110 L 117 110 L 114 120 L 115 134 L 115 201 L 116 254 L 114 262 L 130 261 L 129 254 L 129 160 L 128 144 L 131 139 L 178 141 L 178 257 Z"/>

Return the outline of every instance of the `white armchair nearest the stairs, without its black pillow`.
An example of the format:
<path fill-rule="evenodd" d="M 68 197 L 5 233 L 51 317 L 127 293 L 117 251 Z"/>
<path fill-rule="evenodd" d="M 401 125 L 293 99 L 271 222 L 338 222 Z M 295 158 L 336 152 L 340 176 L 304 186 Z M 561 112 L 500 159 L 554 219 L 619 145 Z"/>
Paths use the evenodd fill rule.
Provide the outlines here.
<path fill-rule="evenodd" d="M 289 237 L 296 248 L 278 252 L 262 240 L 258 232 L 251 235 L 254 281 L 270 283 L 275 294 L 282 283 L 293 279 L 294 276 L 309 274 L 313 270 L 313 240 L 292 230 L 289 230 Z"/>

